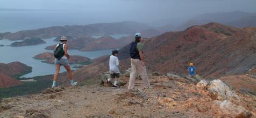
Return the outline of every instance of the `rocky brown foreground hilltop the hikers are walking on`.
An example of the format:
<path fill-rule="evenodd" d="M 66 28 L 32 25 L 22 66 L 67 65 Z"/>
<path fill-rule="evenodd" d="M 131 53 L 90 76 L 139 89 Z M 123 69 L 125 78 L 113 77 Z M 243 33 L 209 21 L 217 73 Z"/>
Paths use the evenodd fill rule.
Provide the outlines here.
<path fill-rule="evenodd" d="M 63 118 L 255 116 L 255 95 L 247 97 L 232 91 L 219 80 L 204 85 L 191 83 L 179 76 L 150 76 L 153 89 L 143 89 L 142 80 L 138 79 L 136 89 L 130 92 L 126 89 L 128 80 L 129 78 L 121 76 L 123 84 L 120 84 L 121 87 L 118 89 L 103 87 L 101 79 L 95 79 L 90 86 L 46 89 L 39 94 L 3 99 L 0 102 L 0 116 Z M 90 80 L 85 83 L 89 82 Z M 229 93 L 221 93 L 222 91 Z M 215 98 L 212 94 L 227 98 Z M 230 98 L 232 95 L 234 98 Z"/>

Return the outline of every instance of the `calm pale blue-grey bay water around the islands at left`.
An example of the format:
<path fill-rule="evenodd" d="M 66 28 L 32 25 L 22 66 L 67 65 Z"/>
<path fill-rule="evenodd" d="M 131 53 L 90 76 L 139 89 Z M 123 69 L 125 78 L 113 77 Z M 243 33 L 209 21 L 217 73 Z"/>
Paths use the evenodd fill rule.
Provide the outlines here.
<path fill-rule="evenodd" d="M 19 61 L 31 66 L 33 68 L 32 72 L 22 77 L 34 77 L 53 74 L 55 72 L 55 65 L 42 63 L 42 60 L 35 60 L 32 57 L 40 53 L 44 53 L 45 51 L 52 51 L 46 50 L 44 48 L 47 46 L 57 44 L 58 42 L 53 41 L 54 39 L 55 38 L 43 39 L 44 41 L 46 41 L 45 44 L 25 47 L 10 47 L 8 45 L 15 41 L 10 41 L 6 39 L 0 40 L 0 45 L 5 45 L 4 47 L 0 47 L 0 63 L 10 63 L 14 61 Z M 112 49 L 97 51 L 68 50 L 68 53 L 70 55 L 80 55 L 94 59 L 103 55 L 111 55 L 111 51 Z M 72 67 L 72 70 L 76 70 L 75 68 L 73 68 L 74 65 L 70 65 L 70 67 Z M 60 71 L 65 71 L 65 68 L 61 67 Z"/>

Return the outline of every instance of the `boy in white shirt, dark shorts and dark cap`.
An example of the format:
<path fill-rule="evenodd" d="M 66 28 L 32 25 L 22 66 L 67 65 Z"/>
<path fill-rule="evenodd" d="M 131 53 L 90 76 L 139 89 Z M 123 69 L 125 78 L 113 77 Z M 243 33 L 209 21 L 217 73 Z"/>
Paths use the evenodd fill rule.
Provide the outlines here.
<path fill-rule="evenodd" d="M 109 71 L 110 71 L 111 78 L 108 79 L 108 82 L 111 82 L 111 79 L 115 78 L 113 87 L 117 87 L 117 80 L 119 80 L 119 76 L 120 76 L 120 71 L 118 69 L 118 66 L 119 66 L 119 62 L 122 62 L 118 60 L 117 56 L 118 56 L 118 51 L 112 50 L 112 55 L 109 58 Z"/>

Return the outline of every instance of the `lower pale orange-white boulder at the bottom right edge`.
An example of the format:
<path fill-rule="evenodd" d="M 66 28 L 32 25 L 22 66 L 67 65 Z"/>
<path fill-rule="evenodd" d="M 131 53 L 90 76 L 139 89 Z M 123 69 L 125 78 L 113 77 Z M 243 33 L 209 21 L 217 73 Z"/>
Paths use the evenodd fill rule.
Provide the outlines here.
<path fill-rule="evenodd" d="M 218 101 L 216 100 L 212 105 L 212 108 L 216 110 L 218 114 L 221 114 L 221 117 L 243 117 L 249 118 L 252 114 L 246 110 L 244 107 L 237 106 L 229 100 Z"/>

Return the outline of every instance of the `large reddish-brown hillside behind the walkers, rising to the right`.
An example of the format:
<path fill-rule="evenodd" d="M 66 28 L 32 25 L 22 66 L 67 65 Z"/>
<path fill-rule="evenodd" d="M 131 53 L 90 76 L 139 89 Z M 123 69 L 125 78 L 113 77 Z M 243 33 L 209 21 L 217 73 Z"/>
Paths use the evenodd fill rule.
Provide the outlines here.
<path fill-rule="evenodd" d="M 188 74 L 188 65 L 195 63 L 203 78 L 244 74 L 255 67 L 256 29 L 235 28 L 216 23 L 193 26 L 181 32 L 167 32 L 144 40 L 148 72 Z M 93 78 L 108 71 L 109 56 L 74 71 L 76 80 Z M 119 50 L 120 70 L 130 68 L 129 45 Z"/>

